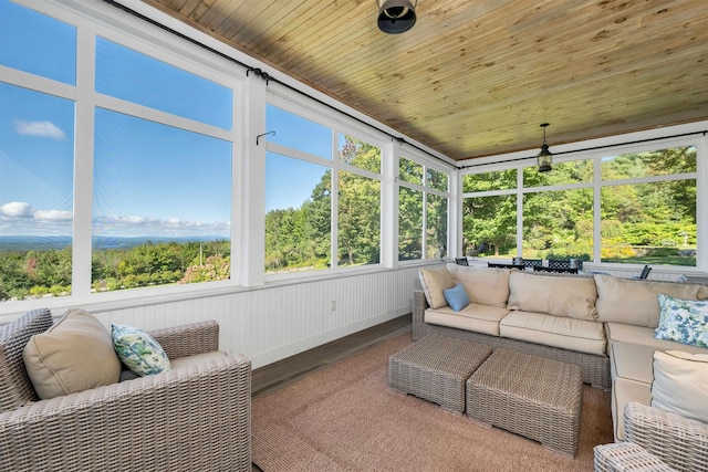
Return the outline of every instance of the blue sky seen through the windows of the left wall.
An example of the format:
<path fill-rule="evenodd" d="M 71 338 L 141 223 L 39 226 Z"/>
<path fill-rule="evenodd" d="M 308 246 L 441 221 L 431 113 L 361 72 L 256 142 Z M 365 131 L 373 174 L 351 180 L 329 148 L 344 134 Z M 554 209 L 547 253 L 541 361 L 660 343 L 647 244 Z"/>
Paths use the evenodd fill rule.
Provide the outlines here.
<path fill-rule="evenodd" d="M 0 0 L 0 64 L 75 84 L 76 28 Z M 231 90 L 103 38 L 96 55 L 97 92 L 232 127 Z M 71 234 L 74 108 L 0 82 L 0 235 Z M 229 238 L 230 143 L 102 108 L 94 125 L 94 235 Z M 268 129 L 332 157 L 327 127 L 269 107 Z M 325 167 L 269 154 L 267 169 L 270 210 L 300 207 Z"/>

